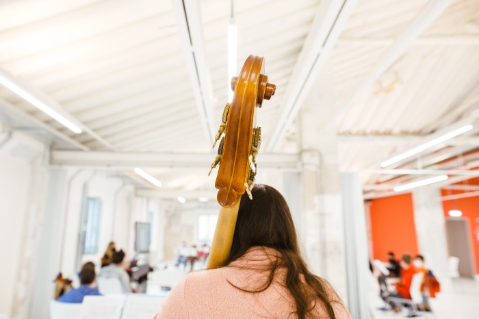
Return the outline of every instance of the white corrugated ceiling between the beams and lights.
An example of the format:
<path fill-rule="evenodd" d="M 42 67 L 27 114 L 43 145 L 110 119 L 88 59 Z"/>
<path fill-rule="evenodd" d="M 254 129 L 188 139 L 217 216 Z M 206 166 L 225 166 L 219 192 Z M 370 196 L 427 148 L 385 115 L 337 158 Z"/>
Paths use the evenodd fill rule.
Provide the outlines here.
<path fill-rule="evenodd" d="M 47 140 L 56 150 L 211 152 L 187 63 L 188 39 L 173 1 L 0 1 L 0 68 L 81 123 L 84 132 L 70 132 L 0 87 L 3 121 L 18 129 L 28 123 L 37 128 L 34 134 L 42 131 L 42 139 L 55 136 Z M 325 62 L 338 109 L 429 2 L 357 1 Z M 219 124 L 227 98 L 231 6 L 224 0 L 198 0 L 198 5 L 201 62 L 211 80 L 213 122 Z M 264 141 L 273 134 L 318 8 L 316 0 L 235 1 L 238 64 L 250 54 L 266 57 L 266 73 L 278 87 L 259 115 Z M 380 160 L 437 130 L 468 117 L 474 122 L 478 87 L 479 1 L 452 1 L 337 118 L 341 170 L 379 168 Z M 479 146 L 476 139 L 463 144 L 436 152 L 454 156 Z M 167 189 L 194 190 L 212 186 L 203 178 L 207 169 L 148 171 Z M 368 174 L 364 181 L 373 184 L 378 178 Z"/>

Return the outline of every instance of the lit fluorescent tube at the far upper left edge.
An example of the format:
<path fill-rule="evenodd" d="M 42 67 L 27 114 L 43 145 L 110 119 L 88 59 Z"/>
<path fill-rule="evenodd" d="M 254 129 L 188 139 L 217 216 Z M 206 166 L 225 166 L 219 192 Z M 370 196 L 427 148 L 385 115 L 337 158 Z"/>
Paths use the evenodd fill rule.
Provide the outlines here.
<path fill-rule="evenodd" d="M 14 79 L 9 79 L 10 77 L 6 76 L 6 74 L 3 74 L 3 72 L 0 73 L 0 84 L 4 85 L 5 87 L 8 87 L 8 89 L 11 89 L 14 93 L 16 93 L 18 96 L 23 98 L 24 100 L 27 100 L 30 102 L 32 105 L 40 109 L 40 111 L 44 111 L 44 113 L 47 113 L 53 119 L 57 120 L 70 130 L 73 130 L 73 132 L 79 134 L 81 133 L 81 128 L 73 124 L 70 120 L 67 120 L 66 117 L 63 115 L 60 115 L 57 111 L 53 110 L 51 107 L 46 105 L 44 102 L 40 101 L 38 98 L 36 98 L 34 95 L 30 94 L 27 92 L 26 89 L 23 89 L 21 85 L 18 85 L 15 83 Z"/>

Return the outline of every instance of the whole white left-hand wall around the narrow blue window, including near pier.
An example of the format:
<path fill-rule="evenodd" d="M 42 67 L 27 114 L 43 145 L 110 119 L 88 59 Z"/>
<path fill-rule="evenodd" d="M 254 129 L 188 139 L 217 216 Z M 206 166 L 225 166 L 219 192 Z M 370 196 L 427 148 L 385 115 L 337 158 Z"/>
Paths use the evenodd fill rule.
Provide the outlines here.
<path fill-rule="evenodd" d="M 49 167 L 48 150 L 23 133 L 0 132 L 0 314 L 8 318 L 48 318 L 55 275 L 76 275 L 84 195 L 101 199 L 103 218 L 99 252 L 81 260 L 98 264 L 110 240 L 131 256 L 131 221 L 146 220 L 138 216 L 143 210 L 134 211 L 142 199 L 131 186 L 109 172 Z M 159 202 L 153 202 L 150 211 L 161 223 Z"/>

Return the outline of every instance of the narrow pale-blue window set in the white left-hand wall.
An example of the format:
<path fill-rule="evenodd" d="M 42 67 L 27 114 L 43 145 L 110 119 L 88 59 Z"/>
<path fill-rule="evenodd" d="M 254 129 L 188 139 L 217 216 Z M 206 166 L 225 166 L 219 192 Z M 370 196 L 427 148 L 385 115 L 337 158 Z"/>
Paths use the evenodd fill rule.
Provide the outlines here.
<path fill-rule="evenodd" d="M 86 199 L 86 223 L 83 227 L 83 253 L 98 252 L 100 241 L 101 200 L 88 197 Z"/>

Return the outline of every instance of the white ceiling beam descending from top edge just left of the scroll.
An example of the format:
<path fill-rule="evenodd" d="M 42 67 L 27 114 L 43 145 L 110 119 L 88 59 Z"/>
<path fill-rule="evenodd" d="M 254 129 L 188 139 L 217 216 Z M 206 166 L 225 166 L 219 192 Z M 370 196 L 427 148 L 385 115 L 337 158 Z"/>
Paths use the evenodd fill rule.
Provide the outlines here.
<path fill-rule="evenodd" d="M 213 145 L 213 136 L 216 134 L 216 130 L 213 130 L 213 85 L 211 85 L 207 65 L 203 23 L 198 0 L 172 0 L 172 5 L 177 18 L 201 126 L 203 126 L 209 145 Z"/>

